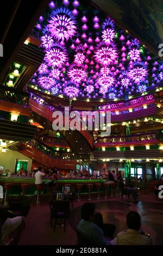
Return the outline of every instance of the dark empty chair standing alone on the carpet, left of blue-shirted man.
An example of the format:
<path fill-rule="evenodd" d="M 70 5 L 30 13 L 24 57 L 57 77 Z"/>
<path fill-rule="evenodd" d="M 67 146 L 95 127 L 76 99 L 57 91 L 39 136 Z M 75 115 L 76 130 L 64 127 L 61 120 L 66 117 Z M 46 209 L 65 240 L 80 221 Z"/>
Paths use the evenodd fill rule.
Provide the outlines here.
<path fill-rule="evenodd" d="M 61 221 L 64 219 L 64 231 L 66 231 L 67 220 L 70 215 L 70 201 L 69 200 L 57 200 L 49 202 L 49 207 L 51 210 L 50 224 L 52 226 L 53 219 L 54 222 L 54 232 L 57 224 L 57 219 L 60 218 Z"/>

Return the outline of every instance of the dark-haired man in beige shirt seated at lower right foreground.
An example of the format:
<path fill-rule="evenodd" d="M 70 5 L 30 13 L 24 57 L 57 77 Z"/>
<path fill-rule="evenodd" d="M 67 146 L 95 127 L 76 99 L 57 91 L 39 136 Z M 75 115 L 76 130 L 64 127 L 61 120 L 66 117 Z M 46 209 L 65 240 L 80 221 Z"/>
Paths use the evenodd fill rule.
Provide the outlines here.
<path fill-rule="evenodd" d="M 117 234 L 111 241 L 112 245 L 152 245 L 152 238 L 142 230 L 138 212 L 130 211 L 126 218 L 128 229 Z"/>

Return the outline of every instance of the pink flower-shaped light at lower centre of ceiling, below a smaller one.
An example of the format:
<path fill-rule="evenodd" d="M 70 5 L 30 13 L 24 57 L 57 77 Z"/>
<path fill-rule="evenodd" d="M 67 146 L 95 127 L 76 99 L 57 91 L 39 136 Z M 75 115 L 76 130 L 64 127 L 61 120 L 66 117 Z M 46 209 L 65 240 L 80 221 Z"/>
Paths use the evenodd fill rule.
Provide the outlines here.
<path fill-rule="evenodd" d="M 80 83 L 85 80 L 87 74 L 84 69 L 81 67 L 73 67 L 67 72 L 68 77 L 71 78 L 73 83 Z"/>

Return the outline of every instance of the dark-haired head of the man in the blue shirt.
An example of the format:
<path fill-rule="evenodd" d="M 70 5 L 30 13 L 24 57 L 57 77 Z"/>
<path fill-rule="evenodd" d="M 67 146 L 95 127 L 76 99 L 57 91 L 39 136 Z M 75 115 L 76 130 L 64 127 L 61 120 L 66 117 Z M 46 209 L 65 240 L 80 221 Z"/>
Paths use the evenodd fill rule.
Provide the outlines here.
<path fill-rule="evenodd" d="M 81 217 L 84 221 L 92 221 L 93 215 L 95 213 L 95 204 L 93 203 L 84 203 L 81 209 Z"/>

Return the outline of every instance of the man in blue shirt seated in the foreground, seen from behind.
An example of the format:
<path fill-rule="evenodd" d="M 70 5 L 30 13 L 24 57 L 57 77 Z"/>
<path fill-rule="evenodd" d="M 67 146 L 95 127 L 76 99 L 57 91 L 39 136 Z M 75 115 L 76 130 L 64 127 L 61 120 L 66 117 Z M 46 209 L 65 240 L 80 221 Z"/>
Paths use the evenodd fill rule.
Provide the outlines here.
<path fill-rule="evenodd" d="M 94 214 L 95 204 L 84 203 L 81 209 L 82 220 L 79 222 L 77 230 L 87 238 L 89 245 L 110 245 L 110 242 L 105 240 L 102 229 L 93 223 Z"/>

